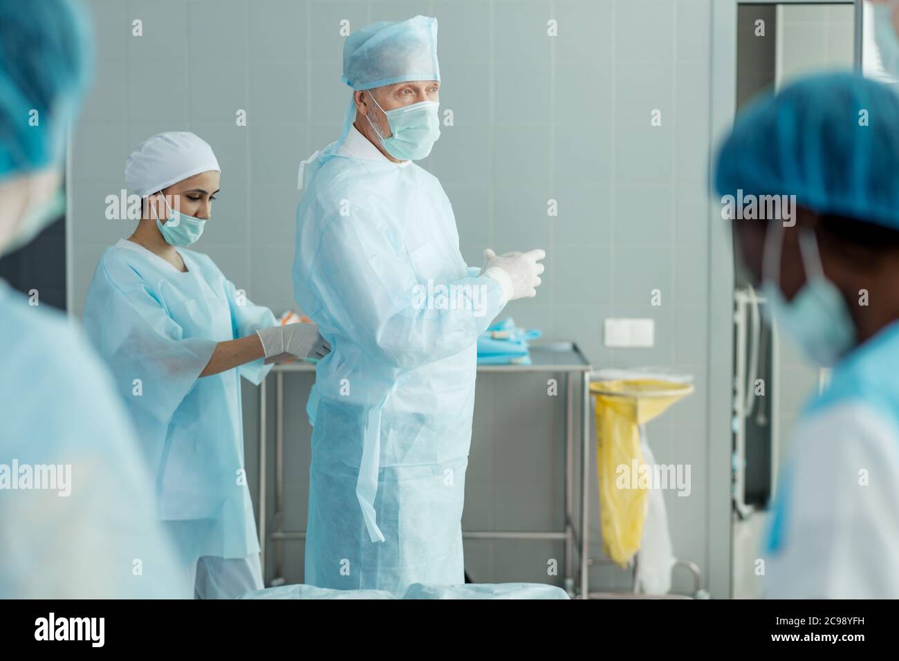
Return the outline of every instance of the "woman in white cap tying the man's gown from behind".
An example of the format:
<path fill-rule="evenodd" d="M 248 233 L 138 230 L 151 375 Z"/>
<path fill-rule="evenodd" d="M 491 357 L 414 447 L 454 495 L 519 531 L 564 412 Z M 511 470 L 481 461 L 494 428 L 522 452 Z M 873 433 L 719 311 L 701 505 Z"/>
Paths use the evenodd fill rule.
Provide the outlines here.
<path fill-rule="evenodd" d="M 258 384 L 275 360 L 330 350 L 317 326 L 278 325 L 207 255 L 187 249 L 209 221 L 219 175 L 212 148 L 193 133 L 161 133 L 138 147 L 125 178 L 142 217 L 101 256 L 85 303 L 85 330 L 155 474 L 182 587 L 198 598 L 263 587 L 240 377 Z"/>

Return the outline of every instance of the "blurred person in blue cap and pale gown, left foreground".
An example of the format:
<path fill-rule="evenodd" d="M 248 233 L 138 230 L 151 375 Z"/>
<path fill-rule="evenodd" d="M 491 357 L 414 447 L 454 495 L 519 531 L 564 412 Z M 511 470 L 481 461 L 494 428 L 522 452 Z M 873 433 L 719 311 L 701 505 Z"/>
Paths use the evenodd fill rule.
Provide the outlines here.
<path fill-rule="evenodd" d="M 74 2 L 0 0 L 0 259 L 64 209 L 91 39 Z M 76 328 L 33 301 L 0 281 L 0 597 L 176 596 L 110 378 Z"/>

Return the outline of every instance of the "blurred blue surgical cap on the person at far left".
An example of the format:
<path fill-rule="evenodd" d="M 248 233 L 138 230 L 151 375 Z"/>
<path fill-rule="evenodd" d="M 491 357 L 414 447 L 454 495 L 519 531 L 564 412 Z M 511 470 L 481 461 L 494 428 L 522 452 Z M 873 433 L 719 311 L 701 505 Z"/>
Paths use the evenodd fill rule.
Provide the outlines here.
<path fill-rule="evenodd" d="M 90 31 L 70 0 L 0 0 L 0 180 L 52 165 L 87 84 Z"/>

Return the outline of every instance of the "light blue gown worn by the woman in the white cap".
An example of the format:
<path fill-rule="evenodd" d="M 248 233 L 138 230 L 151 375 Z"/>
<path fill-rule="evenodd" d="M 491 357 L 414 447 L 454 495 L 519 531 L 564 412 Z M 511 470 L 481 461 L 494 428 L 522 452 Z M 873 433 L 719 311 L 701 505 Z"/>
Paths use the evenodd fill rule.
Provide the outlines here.
<path fill-rule="evenodd" d="M 263 359 L 200 378 L 216 344 L 277 323 L 206 255 L 187 272 L 127 241 L 107 248 L 85 302 L 85 330 L 109 365 L 156 477 L 159 515 L 179 524 L 184 559 L 259 551 L 244 469 L 240 377 Z M 185 525 L 190 532 L 185 534 Z"/>

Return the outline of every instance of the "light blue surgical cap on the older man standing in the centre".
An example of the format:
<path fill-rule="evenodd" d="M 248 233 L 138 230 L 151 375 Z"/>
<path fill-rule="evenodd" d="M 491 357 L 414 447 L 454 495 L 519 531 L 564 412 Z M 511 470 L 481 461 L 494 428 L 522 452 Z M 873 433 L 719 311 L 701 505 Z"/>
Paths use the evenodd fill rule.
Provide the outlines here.
<path fill-rule="evenodd" d="M 343 82 L 354 90 L 440 79 L 436 18 L 373 23 L 343 43 Z"/>

